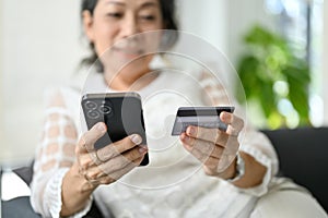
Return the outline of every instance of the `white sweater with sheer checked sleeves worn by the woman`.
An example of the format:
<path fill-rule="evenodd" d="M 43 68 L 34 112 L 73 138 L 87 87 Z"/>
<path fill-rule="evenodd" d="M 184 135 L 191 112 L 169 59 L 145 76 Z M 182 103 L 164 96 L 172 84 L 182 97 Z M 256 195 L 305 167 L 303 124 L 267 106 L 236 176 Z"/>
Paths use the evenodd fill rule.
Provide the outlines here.
<path fill-rule="evenodd" d="M 93 74 L 87 81 L 82 92 L 58 88 L 46 95 L 49 102 L 34 167 L 31 198 L 34 209 L 44 217 L 59 217 L 62 178 L 75 161 L 72 150 L 85 131 L 80 110 L 81 95 L 113 92 L 106 88 L 101 74 Z M 239 135 L 239 149 L 268 169 L 262 183 L 247 190 L 206 175 L 201 162 L 184 149 L 178 137 L 171 136 L 178 107 L 235 105 L 223 84 L 213 84 L 213 78 L 203 77 L 200 72 L 187 74 L 167 70 L 139 90 L 150 165 L 138 167 L 117 182 L 101 185 L 93 193 L 105 216 L 110 210 L 115 217 L 237 217 L 249 202 L 267 193 L 271 178 L 278 171 L 278 160 L 263 134 L 247 126 Z M 54 99 L 57 101 L 55 106 Z M 236 113 L 243 117 L 238 107 Z M 75 130 L 75 135 L 66 134 L 70 128 Z M 91 201 L 74 217 L 82 217 L 90 206 Z"/>

